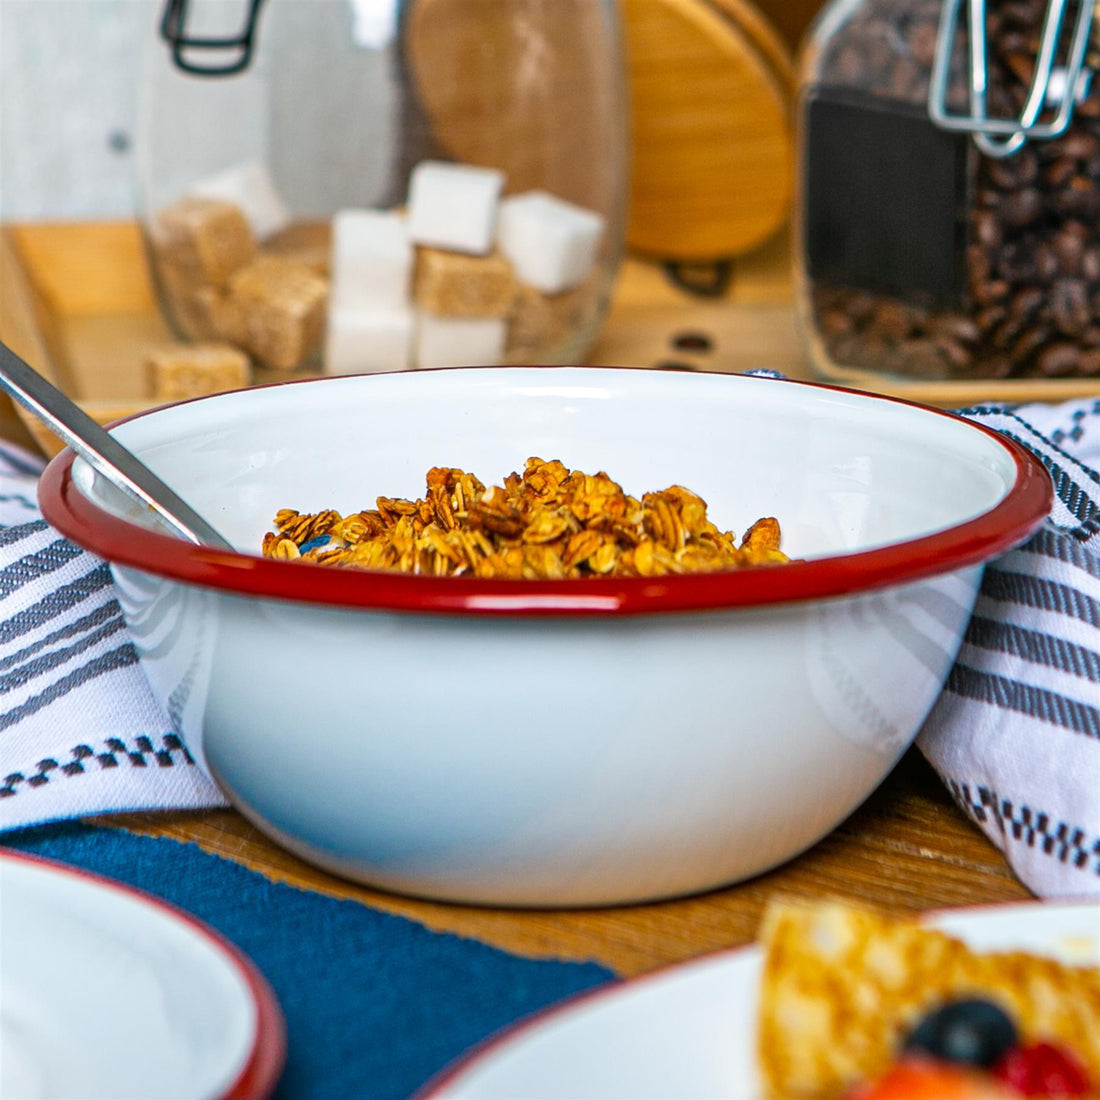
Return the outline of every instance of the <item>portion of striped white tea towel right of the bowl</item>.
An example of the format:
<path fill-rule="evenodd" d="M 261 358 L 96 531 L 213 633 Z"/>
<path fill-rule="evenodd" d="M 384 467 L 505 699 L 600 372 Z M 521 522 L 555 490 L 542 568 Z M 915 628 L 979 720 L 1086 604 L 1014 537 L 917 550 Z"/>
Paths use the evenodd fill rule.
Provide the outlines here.
<path fill-rule="evenodd" d="M 1037 454 L 1056 499 L 986 568 L 917 745 L 1032 890 L 1100 894 L 1100 400 L 960 411 Z"/>

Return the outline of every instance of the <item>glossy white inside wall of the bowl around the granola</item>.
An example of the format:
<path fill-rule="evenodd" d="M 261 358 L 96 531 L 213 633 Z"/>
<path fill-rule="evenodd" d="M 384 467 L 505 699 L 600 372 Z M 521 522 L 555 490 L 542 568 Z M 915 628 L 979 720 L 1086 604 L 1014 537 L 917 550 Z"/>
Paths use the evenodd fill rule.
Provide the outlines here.
<path fill-rule="evenodd" d="M 905 541 L 997 505 L 1012 453 L 957 418 L 789 382 L 623 369 L 462 369 L 223 394 L 118 426 L 120 440 L 243 552 L 280 508 L 342 513 L 424 495 L 431 466 L 499 483 L 525 459 L 606 471 L 636 496 L 681 484 L 738 535 L 776 516 L 821 558 Z M 74 465 L 108 512 L 143 509 Z"/>

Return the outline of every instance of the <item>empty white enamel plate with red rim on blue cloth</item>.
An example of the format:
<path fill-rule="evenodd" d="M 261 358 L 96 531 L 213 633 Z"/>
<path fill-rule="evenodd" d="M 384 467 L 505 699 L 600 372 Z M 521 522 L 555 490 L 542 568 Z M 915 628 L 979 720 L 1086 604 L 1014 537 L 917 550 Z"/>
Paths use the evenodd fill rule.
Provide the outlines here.
<path fill-rule="evenodd" d="M 147 894 L 0 854 L 0 1097 L 252 1100 L 283 1018 L 255 967 Z"/>

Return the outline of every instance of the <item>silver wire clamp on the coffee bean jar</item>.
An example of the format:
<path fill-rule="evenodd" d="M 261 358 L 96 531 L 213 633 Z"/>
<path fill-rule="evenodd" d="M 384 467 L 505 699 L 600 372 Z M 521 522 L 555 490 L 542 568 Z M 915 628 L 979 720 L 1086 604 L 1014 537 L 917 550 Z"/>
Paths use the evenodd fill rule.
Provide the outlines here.
<path fill-rule="evenodd" d="M 1064 133 L 1072 117 L 1074 106 L 1085 98 L 1091 82 L 1092 74 L 1085 68 L 1085 55 L 1097 10 L 1094 0 L 1078 0 L 1069 50 L 1065 64 L 1058 66 L 1055 61 L 1064 35 L 1067 0 L 1049 0 L 1043 16 L 1031 86 L 1015 119 L 991 119 L 987 113 L 986 0 L 967 0 L 970 113 L 952 113 L 947 109 L 950 61 L 961 4 L 963 0 L 944 0 L 941 11 L 928 85 L 928 114 L 932 120 L 945 130 L 971 133 L 978 148 L 994 157 L 1011 156 L 1030 138 L 1056 138 Z"/>

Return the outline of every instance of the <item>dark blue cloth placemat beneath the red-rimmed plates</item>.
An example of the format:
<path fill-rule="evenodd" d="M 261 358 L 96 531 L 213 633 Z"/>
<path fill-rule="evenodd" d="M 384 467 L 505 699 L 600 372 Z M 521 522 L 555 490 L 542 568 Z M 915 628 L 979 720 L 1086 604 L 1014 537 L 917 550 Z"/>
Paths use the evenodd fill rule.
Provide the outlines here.
<path fill-rule="evenodd" d="M 241 948 L 286 1018 L 279 1100 L 404 1100 L 506 1024 L 613 978 L 270 882 L 191 844 L 69 822 L 3 843 L 145 890 Z"/>

